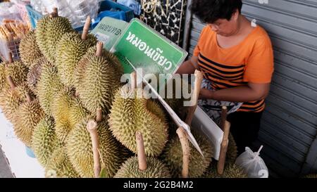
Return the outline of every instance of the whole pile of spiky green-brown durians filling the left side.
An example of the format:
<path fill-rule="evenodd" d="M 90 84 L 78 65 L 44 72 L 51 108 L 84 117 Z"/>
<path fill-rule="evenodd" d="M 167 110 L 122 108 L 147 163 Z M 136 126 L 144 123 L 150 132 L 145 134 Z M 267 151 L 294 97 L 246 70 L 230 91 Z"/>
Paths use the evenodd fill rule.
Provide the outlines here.
<path fill-rule="evenodd" d="M 0 64 L 0 107 L 15 135 L 32 148 L 45 177 L 182 177 L 175 125 L 158 101 L 120 83 L 122 66 L 87 34 L 89 22 L 80 34 L 56 12 L 45 15 L 20 42 L 21 60 Z M 204 157 L 189 144 L 188 177 L 209 177 L 213 146 L 194 135 Z"/>

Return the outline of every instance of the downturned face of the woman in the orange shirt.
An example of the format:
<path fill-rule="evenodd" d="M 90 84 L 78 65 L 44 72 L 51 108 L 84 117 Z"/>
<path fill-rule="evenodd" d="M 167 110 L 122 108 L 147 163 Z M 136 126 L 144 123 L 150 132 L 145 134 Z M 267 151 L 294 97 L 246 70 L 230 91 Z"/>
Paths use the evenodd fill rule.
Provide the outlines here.
<path fill-rule="evenodd" d="M 237 32 L 238 23 L 237 18 L 239 17 L 239 11 L 236 11 L 233 13 L 230 20 L 227 19 L 218 19 L 214 23 L 209 23 L 209 27 L 211 27 L 211 30 L 216 32 L 217 34 L 229 37 L 232 34 L 235 34 Z"/>

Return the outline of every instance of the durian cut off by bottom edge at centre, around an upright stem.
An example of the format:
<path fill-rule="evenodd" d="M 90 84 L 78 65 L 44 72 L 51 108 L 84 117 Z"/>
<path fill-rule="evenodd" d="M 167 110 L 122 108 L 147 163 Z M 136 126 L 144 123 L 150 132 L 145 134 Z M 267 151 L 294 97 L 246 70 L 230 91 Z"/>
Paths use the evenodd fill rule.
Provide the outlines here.
<path fill-rule="evenodd" d="M 139 170 L 137 157 L 129 158 L 115 175 L 116 178 L 170 178 L 166 165 L 153 157 L 147 157 L 147 169 Z"/>

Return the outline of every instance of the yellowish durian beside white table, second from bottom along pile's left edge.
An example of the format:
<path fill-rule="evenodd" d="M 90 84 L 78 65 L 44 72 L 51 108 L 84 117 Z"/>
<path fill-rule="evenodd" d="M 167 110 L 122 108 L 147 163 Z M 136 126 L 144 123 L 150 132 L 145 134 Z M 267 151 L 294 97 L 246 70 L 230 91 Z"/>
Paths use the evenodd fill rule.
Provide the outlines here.
<path fill-rule="evenodd" d="M 55 133 L 55 122 L 51 117 L 44 117 L 35 127 L 32 135 L 32 150 L 39 163 L 45 167 L 53 152 L 61 148 Z"/>

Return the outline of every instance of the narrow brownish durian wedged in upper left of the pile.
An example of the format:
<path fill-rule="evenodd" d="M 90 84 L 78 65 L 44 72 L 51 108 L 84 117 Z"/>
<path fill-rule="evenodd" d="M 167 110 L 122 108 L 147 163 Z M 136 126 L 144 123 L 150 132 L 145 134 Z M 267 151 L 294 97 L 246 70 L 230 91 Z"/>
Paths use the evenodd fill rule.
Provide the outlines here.
<path fill-rule="evenodd" d="M 42 64 L 45 62 L 47 62 L 47 60 L 44 57 L 33 61 L 33 64 L 27 73 L 27 85 L 35 94 L 37 94 L 37 82 L 39 82 L 39 77 L 41 75 Z"/>

